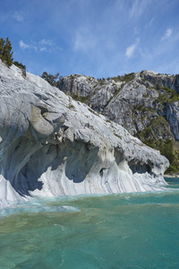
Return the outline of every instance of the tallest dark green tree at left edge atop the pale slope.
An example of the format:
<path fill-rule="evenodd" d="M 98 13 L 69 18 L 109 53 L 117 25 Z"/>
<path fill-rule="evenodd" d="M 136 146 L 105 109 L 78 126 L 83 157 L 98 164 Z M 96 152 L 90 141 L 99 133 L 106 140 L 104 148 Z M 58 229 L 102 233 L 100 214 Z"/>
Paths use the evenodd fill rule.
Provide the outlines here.
<path fill-rule="evenodd" d="M 6 40 L 0 39 L 0 59 L 8 67 L 13 65 L 12 44 L 9 38 L 6 38 Z"/>

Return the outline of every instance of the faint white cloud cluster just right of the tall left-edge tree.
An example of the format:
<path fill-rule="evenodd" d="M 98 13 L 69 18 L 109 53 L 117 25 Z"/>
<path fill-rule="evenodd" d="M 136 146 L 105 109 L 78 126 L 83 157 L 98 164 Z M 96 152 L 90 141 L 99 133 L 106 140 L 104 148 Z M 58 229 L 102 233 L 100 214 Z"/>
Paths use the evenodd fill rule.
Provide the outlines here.
<path fill-rule="evenodd" d="M 63 50 L 63 48 L 58 47 L 51 39 L 41 39 L 38 42 L 31 40 L 29 44 L 21 40 L 20 48 L 23 50 L 32 49 L 36 52 L 52 52 L 54 50 Z"/>

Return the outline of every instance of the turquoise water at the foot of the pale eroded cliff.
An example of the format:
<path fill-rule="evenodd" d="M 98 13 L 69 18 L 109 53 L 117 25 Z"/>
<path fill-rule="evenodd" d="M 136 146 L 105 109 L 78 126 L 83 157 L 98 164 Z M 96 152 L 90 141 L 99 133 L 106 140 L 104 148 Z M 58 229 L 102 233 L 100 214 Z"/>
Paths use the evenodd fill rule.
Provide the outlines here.
<path fill-rule="evenodd" d="M 2 210 L 0 268 L 179 268 L 174 190 L 36 200 Z"/>

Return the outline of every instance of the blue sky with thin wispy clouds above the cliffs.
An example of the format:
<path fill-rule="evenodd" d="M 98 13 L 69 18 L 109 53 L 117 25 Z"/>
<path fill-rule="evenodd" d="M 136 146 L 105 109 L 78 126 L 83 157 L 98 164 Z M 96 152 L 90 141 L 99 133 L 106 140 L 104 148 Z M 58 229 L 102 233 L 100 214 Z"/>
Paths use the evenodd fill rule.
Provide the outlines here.
<path fill-rule="evenodd" d="M 32 74 L 179 74 L 178 0 L 0 3 L 0 38 Z"/>

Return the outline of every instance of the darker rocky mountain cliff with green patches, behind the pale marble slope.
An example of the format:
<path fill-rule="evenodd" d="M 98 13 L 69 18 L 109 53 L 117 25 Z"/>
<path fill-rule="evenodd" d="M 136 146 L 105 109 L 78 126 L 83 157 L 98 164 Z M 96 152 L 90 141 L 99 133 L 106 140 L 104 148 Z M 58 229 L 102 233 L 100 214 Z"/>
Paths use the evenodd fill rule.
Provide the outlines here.
<path fill-rule="evenodd" d="M 58 88 L 166 154 L 170 170 L 179 169 L 179 75 L 142 71 L 97 80 L 73 74 Z"/>

